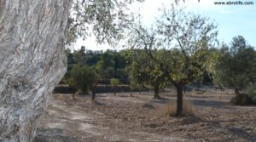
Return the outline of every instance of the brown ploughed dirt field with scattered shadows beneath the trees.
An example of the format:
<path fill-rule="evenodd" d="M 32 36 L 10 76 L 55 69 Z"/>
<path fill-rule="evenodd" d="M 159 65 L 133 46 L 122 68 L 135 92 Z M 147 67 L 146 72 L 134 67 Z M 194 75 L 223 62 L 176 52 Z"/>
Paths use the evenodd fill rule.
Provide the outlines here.
<path fill-rule="evenodd" d="M 184 94 L 195 116 L 181 118 L 164 114 L 175 92 L 161 96 L 96 94 L 91 103 L 90 96 L 54 94 L 34 141 L 256 141 L 256 107 L 230 105 L 231 91 Z"/>

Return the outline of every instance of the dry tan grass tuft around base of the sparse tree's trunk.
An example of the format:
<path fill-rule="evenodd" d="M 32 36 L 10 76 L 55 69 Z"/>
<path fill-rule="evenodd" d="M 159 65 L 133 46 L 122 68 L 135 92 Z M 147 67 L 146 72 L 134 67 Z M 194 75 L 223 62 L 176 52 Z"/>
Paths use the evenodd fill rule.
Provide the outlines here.
<path fill-rule="evenodd" d="M 183 116 L 194 116 L 194 105 L 189 99 L 183 99 Z M 164 106 L 165 116 L 176 116 L 177 102 L 176 100 L 171 100 L 168 104 Z"/>

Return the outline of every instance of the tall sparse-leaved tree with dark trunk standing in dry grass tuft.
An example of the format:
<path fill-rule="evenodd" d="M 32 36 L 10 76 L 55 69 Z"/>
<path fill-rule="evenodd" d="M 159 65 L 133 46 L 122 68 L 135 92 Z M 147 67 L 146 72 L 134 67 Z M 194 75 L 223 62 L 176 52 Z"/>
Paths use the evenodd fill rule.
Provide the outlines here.
<path fill-rule="evenodd" d="M 151 60 L 160 65 L 169 82 L 177 89 L 177 115 L 183 116 L 183 87 L 203 77 L 208 48 L 216 42 L 216 26 L 201 15 L 183 9 L 162 9 L 154 28 L 135 26 L 132 47 L 144 48 Z M 154 56 L 161 49 L 164 55 Z"/>

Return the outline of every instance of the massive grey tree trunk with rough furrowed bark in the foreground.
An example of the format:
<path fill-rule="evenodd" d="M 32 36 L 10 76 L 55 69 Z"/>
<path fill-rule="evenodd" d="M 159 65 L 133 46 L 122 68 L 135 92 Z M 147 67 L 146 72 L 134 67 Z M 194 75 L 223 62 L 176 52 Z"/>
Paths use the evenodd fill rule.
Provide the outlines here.
<path fill-rule="evenodd" d="M 66 72 L 70 0 L 0 0 L 0 141 L 29 142 Z"/>

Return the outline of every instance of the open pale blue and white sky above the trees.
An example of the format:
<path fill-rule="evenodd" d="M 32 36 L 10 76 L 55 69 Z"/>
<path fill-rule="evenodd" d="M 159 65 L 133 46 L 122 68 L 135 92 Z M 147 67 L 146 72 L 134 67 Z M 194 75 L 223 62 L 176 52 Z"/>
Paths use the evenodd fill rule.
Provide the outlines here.
<path fill-rule="evenodd" d="M 215 5 L 214 2 L 236 2 L 236 0 L 185 0 L 180 5 L 196 14 L 203 14 L 218 24 L 218 39 L 220 42 L 230 43 L 232 37 L 241 35 L 245 37 L 247 43 L 256 48 L 256 1 L 241 0 L 244 2 L 253 2 L 253 5 Z M 154 23 L 155 17 L 160 15 L 158 11 L 163 5 L 171 6 L 174 0 L 145 0 L 144 3 L 134 3 L 131 9 L 135 13 L 143 16 L 143 24 L 150 26 Z M 94 37 L 83 41 L 79 39 L 74 48 L 80 48 L 82 45 L 86 49 L 106 50 L 110 48 L 108 44 L 97 45 Z"/>

